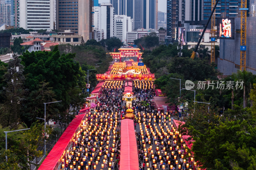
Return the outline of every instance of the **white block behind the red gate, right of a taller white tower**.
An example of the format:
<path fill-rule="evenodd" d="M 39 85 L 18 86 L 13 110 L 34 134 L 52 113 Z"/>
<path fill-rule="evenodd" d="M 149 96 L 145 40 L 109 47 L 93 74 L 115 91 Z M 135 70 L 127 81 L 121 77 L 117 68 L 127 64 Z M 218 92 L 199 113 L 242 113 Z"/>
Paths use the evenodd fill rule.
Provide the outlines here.
<path fill-rule="evenodd" d="M 115 15 L 115 37 L 127 43 L 127 32 L 132 31 L 132 19 L 126 15 Z"/>

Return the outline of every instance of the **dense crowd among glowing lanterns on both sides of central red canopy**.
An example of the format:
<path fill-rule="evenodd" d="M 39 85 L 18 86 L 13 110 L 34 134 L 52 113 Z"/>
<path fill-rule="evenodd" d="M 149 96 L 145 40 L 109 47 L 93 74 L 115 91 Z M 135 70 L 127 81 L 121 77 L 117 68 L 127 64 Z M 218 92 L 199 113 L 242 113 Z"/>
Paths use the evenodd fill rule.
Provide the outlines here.
<path fill-rule="evenodd" d="M 68 164 L 63 169 L 91 170 L 105 167 L 111 170 L 119 169 L 120 124 L 127 109 L 125 101 L 122 100 L 124 85 L 125 81 L 121 88 L 102 89 L 97 100 L 97 112 L 87 115 L 84 130 L 76 137 L 76 144 L 74 143 L 75 146 L 70 149 L 67 157 Z M 179 143 L 179 136 L 168 136 L 163 131 L 163 129 L 167 131 L 166 125 L 168 125 L 173 132 L 173 127 L 168 123 L 172 122 L 173 117 L 168 112 L 162 115 L 156 110 L 152 102 L 156 95 L 155 89 L 139 88 L 133 85 L 133 93 L 135 100 L 132 100 L 132 109 L 137 117 L 134 120 L 134 126 L 140 165 L 138 169 L 173 170 L 179 165 L 181 169 L 188 169 L 187 163 L 189 163 L 188 167 L 193 169 L 194 165 L 189 157 L 186 163 L 183 161 L 187 153 Z M 144 125 L 143 133 L 140 131 L 139 122 L 145 124 L 142 124 Z"/>

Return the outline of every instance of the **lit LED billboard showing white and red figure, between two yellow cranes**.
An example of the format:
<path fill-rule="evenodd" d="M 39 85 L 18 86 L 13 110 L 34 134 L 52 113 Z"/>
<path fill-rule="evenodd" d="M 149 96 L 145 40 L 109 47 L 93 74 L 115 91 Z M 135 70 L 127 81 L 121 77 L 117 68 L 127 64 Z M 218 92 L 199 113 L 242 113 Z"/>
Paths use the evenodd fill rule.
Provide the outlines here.
<path fill-rule="evenodd" d="M 219 39 L 234 40 L 235 39 L 235 19 L 234 18 L 218 18 L 217 19 L 217 37 Z"/>

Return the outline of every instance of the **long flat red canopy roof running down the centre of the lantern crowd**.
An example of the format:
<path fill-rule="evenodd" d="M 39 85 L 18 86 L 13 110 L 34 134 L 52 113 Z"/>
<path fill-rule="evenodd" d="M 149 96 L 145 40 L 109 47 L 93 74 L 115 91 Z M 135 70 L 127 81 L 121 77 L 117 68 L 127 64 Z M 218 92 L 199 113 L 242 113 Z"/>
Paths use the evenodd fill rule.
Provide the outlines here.
<path fill-rule="evenodd" d="M 138 170 L 139 159 L 134 123 L 131 119 L 121 121 L 120 169 Z"/>

